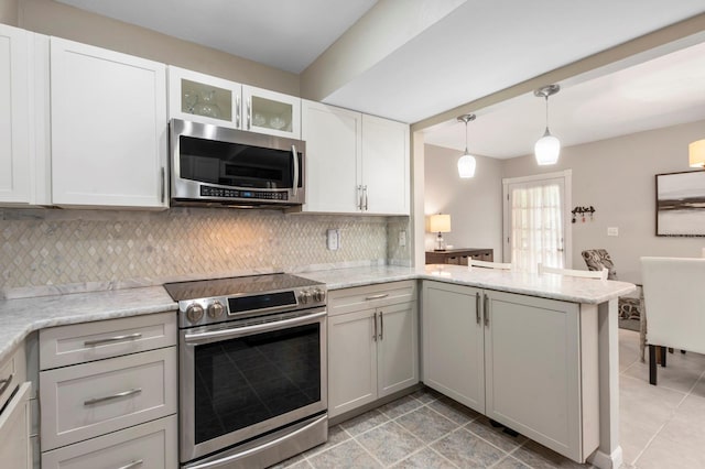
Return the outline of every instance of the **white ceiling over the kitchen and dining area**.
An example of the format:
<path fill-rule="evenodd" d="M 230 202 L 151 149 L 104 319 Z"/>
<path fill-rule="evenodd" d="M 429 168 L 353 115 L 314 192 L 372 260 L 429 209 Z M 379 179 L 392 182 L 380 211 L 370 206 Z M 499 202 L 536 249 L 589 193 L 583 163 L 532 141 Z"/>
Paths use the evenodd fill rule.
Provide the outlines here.
<path fill-rule="evenodd" d="M 703 0 L 58 1 L 295 74 L 360 18 L 403 8 L 420 19 L 401 25 L 404 41 L 322 100 L 410 123 L 705 12 Z M 400 28 L 394 18 L 389 30 Z M 375 33 L 358 31 L 350 43 L 369 47 Z M 705 119 L 703 42 L 705 33 L 561 83 L 552 133 L 565 146 Z M 476 113 L 468 148 L 487 156 L 531 153 L 545 127 L 544 102 L 531 94 Z M 425 141 L 463 150 L 465 127 L 438 124 Z"/>

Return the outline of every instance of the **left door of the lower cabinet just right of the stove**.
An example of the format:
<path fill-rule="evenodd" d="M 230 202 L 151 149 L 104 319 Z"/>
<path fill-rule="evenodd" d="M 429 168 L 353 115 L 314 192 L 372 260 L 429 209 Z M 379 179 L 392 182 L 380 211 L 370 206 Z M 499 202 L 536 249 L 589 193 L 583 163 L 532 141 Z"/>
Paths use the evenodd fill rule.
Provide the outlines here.
<path fill-rule="evenodd" d="M 328 317 L 328 416 L 377 399 L 375 309 Z"/>

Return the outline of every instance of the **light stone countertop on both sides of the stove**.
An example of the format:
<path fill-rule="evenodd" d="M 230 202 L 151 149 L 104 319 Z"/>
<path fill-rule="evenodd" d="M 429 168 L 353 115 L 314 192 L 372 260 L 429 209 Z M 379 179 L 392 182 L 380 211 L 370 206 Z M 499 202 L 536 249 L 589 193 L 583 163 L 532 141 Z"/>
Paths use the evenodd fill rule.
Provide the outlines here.
<path fill-rule="evenodd" d="M 445 264 L 416 269 L 362 266 L 297 272 L 296 275 L 323 282 L 329 290 L 422 279 L 588 304 L 604 303 L 636 290 L 633 284 L 626 282 L 477 268 L 470 271 L 467 266 Z M 176 308 L 176 303 L 162 286 L 0 299 L 0 361 L 33 330 Z"/>

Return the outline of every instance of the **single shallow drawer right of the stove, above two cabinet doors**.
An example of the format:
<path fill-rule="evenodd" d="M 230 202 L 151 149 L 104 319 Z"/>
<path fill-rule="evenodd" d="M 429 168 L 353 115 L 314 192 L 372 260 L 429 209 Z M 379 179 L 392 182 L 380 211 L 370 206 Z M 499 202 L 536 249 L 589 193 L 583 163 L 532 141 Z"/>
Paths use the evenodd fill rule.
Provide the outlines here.
<path fill-rule="evenodd" d="M 415 299 L 416 281 L 413 280 L 334 290 L 328 292 L 328 316 Z"/>

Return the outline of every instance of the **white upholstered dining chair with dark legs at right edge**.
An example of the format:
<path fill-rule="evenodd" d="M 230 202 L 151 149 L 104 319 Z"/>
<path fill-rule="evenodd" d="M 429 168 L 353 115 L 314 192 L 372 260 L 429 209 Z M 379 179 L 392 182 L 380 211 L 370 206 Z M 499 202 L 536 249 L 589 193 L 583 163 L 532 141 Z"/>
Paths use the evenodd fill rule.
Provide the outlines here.
<path fill-rule="evenodd" d="M 649 321 L 649 382 L 657 384 L 665 348 L 705 353 L 705 259 L 641 258 L 644 310 Z"/>

